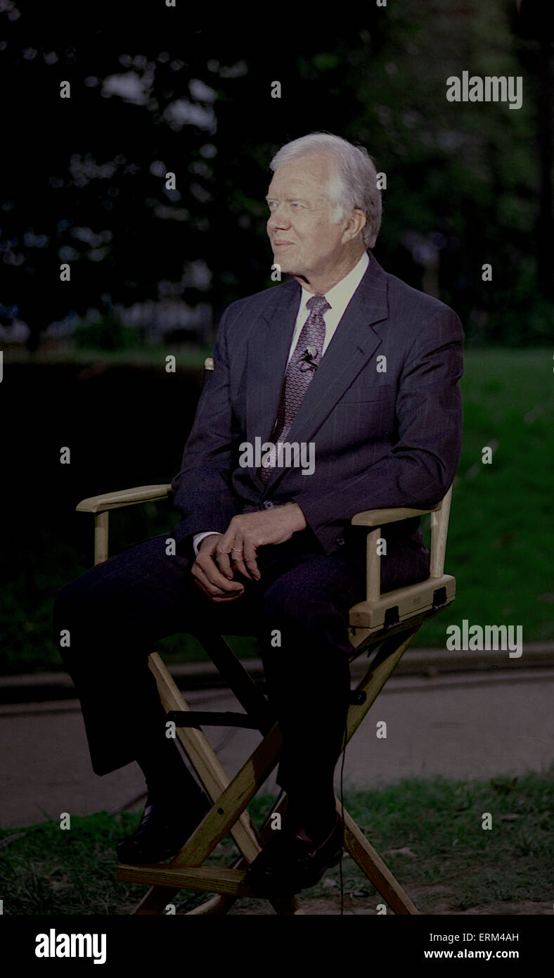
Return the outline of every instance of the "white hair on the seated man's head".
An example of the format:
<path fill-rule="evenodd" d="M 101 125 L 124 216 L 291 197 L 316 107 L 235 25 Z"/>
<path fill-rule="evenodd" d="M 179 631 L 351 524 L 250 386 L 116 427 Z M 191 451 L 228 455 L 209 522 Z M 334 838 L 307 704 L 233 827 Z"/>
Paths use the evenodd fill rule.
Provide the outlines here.
<path fill-rule="evenodd" d="M 281 163 L 315 154 L 327 156 L 333 163 L 333 172 L 324 188 L 325 196 L 334 204 L 333 223 L 360 207 L 366 221 L 362 231 L 363 244 L 373 247 L 381 227 L 381 191 L 377 187 L 373 160 L 362 146 L 354 146 L 330 132 L 311 132 L 281 146 L 270 169 L 275 172 Z"/>

